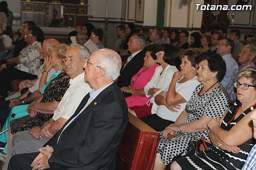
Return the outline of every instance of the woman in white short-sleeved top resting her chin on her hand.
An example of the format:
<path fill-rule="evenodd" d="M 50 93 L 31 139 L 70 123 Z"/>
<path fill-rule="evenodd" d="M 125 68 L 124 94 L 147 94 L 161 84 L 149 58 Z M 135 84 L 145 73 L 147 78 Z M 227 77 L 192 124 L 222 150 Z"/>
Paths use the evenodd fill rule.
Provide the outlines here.
<path fill-rule="evenodd" d="M 156 131 L 162 131 L 174 123 L 180 113 L 185 109 L 186 103 L 193 91 L 200 84 L 197 77 L 196 57 L 202 51 L 199 48 L 190 48 L 181 55 L 180 71 L 174 73 L 170 86 L 156 95 L 156 114 L 140 118 Z"/>

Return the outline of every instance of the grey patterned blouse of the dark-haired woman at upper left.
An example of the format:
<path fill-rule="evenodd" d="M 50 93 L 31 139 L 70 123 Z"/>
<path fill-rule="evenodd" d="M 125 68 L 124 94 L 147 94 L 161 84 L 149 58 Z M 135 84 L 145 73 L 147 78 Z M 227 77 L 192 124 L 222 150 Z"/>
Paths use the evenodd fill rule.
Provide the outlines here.
<path fill-rule="evenodd" d="M 20 51 L 20 64 L 16 65 L 15 68 L 32 75 L 37 75 L 39 67 L 42 65 L 40 60 L 40 50 L 40 42 L 34 42 L 33 44 L 26 46 Z"/>

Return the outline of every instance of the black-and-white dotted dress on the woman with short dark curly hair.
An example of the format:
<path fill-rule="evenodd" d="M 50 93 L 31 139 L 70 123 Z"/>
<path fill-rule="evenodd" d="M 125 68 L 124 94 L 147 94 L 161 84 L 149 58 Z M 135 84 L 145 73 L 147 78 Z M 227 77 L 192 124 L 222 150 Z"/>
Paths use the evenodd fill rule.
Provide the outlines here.
<path fill-rule="evenodd" d="M 199 120 L 203 115 L 220 118 L 226 113 L 229 105 L 226 89 L 220 85 L 210 93 L 200 96 L 199 92 L 203 87 L 200 84 L 194 90 L 191 99 L 186 105 L 187 117 L 182 124 Z M 209 140 L 208 133 L 209 130 L 195 133 L 176 132 L 174 136 L 178 137 L 178 139 L 171 141 L 169 138 L 164 138 L 161 132 L 157 153 L 161 154 L 162 162 L 168 165 L 175 156 L 186 155 L 190 140 L 200 140 L 202 135 L 205 136 L 206 141 Z"/>

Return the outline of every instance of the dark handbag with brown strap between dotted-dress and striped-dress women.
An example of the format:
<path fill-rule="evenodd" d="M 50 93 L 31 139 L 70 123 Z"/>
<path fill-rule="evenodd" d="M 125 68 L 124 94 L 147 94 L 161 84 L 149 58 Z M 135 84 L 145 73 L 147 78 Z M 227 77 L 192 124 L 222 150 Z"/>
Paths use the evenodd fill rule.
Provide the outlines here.
<path fill-rule="evenodd" d="M 186 156 L 190 156 L 192 154 L 198 154 L 199 152 L 209 148 L 210 146 L 212 146 L 212 144 L 210 142 L 206 142 L 204 140 L 204 136 L 201 137 L 201 140 L 197 140 L 197 141 L 190 140 L 188 142 L 188 148 L 187 148 L 188 152 Z"/>

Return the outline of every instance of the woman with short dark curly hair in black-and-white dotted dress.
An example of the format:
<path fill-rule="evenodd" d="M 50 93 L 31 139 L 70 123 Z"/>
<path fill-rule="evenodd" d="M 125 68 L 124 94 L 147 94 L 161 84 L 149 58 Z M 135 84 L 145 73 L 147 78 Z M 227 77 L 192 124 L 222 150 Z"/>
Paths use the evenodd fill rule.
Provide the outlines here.
<path fill-rule="evenodd" d="M 196 87 L 176 121 L 160 133 L 154 169 L 165 170 L 174 157 L 186 155 L 190 140 L 200 140 L 201 136 L 209 140 L 207 123 L 222 117 L 228 109 L 226 89 L 219 83 L 225 75 L 225 61 L 216 53 L 202 53 L 196 63 L 202 84 Z M 168 134 L 178 139 L 172 141 Z"/>

